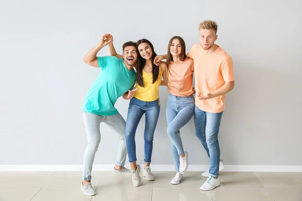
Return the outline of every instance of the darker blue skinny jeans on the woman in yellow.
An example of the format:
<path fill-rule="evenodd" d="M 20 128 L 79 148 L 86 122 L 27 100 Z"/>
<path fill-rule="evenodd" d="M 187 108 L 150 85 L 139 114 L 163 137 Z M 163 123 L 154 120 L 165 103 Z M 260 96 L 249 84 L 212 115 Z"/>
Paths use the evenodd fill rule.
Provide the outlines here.
<path fill-rule="evenodd" d="M 153 136 L 160 115 L 159 99 L 152 102 L 145 102 L 133 97 L 130 100 L 126 121 L 126 146 L 130 163 L 136 161 L 135 132 L 144 113 L 144 162 L 150 163 L 153 149 Z"/>

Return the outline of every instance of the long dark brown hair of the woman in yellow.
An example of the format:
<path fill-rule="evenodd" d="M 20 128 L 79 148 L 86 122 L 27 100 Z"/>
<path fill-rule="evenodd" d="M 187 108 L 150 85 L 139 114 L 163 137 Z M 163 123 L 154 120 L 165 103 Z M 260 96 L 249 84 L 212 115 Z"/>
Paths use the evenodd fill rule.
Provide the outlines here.
<path fill-rule="evenodd" d="M 136 42 L 136 51 L 137 51 L 136 81 L 137 81 L 137 84 L 139 86 L 144 87 L 143 79 L 142 79 L 142 69 L 143 69 L 143 67 L 146 64 L 146 60 L 140 56 L 140 53 L 138 51 L 138 45 L 140 45 L 141 43 L 147 43 L 151 47 L 151 50 L 152 50 L 152 57 L 151 57 L 152 63 L 153 63 L 155 57 L 157 56 L 157 54 L 154 51 L 154 47 L 153 47 L 152 43 L 150 41 L 148 41 L 147 39 L 143 38 L 143 39 L 138 40 Z M 153 76 L 153 82 L 152 83 L 156 82 L 156 80 L 159 77 L 159 73 L 160 73 L 160 67 L 157 66 L 157 65 L 155 65 L 155 64 L 153 64 L 152 65 L 152 76 Z"/>

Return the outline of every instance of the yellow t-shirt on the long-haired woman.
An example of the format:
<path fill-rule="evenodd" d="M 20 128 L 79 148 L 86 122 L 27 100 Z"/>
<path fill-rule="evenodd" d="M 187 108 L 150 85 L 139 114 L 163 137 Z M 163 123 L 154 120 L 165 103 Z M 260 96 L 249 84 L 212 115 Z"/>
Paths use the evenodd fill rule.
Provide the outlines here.
<path fill-rule="evenodd" d="M 146 73 L 144 70 L 142 70 L 142 79 L 143 79 L 144 87 L 139 86 L 136 82 L 136 85 L 134 86 L 133 89 L 138 88 L 138 90 L 135 91 L 134 97 L 147 102 L 151 102 L 160 98 L 159 88 L 163 77 L 161 64 L 158 66 L 158 68 L 160 68 L 159 76 L 154 83 L 152 83 L 153 81 L 152 72 Z"/>

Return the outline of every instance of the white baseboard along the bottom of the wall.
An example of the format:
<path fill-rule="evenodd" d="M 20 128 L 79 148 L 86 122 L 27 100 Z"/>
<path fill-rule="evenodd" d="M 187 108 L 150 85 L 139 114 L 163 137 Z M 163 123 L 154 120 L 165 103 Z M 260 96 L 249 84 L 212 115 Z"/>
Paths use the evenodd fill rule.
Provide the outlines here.
<path fill-rule="evenodd" d="M 130 168 L 129 165 L 125 165 Z M 144 165 L 141 164 L 141 167 Z M 93 165 L 94 171 L 111 171 L 114 165 Z M 153 171 L 174 171 L 174 165 L 152 165 Z M 189 165 L 188 171 L 207 171 L 208 165 Z M 0 171 L 82 171 L 83 165 L 0 165 Z M 302 165 L 225 165 L 223 171 L 302 172 Z"/>

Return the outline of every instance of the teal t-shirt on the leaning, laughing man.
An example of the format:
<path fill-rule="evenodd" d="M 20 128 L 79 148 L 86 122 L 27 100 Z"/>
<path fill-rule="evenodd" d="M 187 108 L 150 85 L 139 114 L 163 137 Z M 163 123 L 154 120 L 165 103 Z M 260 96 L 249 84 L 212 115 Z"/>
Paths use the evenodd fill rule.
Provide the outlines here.
<path fill-rule="evenodd" d="M 134 69 L 128 70 L 123 59 L 115 56 L 98 57 L 102 68 L 97 80 L 90 88 L 83 104 L 83 112 L 101 116 L 117 114 L 114 104 L 120 96 L 135 84 Z"/>

